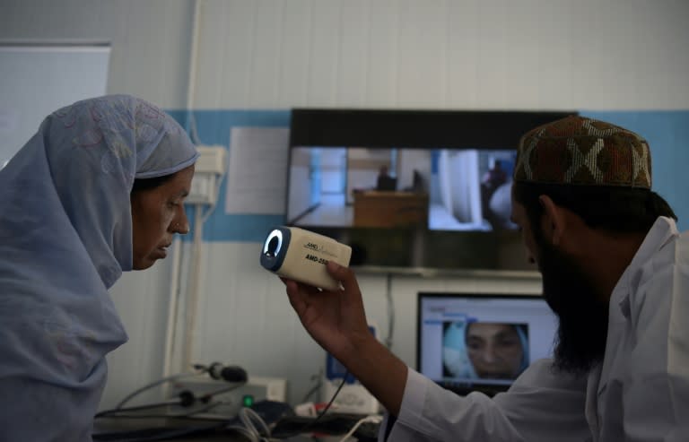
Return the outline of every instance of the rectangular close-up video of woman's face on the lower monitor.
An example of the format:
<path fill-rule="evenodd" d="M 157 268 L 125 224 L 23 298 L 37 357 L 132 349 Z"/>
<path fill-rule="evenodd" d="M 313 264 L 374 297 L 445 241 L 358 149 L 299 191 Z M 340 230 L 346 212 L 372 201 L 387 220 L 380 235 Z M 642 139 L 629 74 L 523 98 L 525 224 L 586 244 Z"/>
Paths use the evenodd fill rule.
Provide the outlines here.
<path fill-rule="evenodd" d="M 448 322 L 442 358 L 445 377 L 516 379 L 528 367 L 528 325 Z"/>

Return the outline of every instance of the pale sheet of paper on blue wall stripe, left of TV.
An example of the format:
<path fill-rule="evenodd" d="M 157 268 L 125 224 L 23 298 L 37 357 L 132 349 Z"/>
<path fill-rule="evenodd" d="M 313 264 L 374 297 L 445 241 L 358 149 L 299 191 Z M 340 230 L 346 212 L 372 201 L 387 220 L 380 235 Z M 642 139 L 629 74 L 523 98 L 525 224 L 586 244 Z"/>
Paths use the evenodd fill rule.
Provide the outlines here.
<path fill-rule="evenodd" d="M 284 213 L 289 139 L 287 127 L 232 128 L 226 213 Z"/>

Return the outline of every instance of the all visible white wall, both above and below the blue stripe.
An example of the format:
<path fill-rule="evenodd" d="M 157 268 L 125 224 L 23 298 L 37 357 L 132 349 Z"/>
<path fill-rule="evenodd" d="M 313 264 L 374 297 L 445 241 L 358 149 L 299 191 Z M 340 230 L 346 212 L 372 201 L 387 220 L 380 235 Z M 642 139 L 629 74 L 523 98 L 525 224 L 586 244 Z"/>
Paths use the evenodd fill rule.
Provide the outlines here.
<path fill-rule="evenodd" d="M 163 108 L 689 108 L 685 0 L 200 0 L 190 69 L 190 0 L 3 0 L 0 40 L 111 43 L 109 92 Z M 205 247 L 196 356 L 286 376 L 299 400 L 322 365 L 257 244 Z M 249 258 L 247 258 L 249 256 Z M 255 258 L 253 256 L 256 256 Z M 160 372 L 166 268 L 113 290 L 131 342 L 116 351 L 104 404 Z M 362 275 L 385 325 L 386 279 Z M 396 277 L 393 350 L 414 363 L 414 295 L 524 290 L 535 279 Z M 151 356 L 153 354 L 153 357 Z M 145 366 L 145 367 L 144 367 Z"/>

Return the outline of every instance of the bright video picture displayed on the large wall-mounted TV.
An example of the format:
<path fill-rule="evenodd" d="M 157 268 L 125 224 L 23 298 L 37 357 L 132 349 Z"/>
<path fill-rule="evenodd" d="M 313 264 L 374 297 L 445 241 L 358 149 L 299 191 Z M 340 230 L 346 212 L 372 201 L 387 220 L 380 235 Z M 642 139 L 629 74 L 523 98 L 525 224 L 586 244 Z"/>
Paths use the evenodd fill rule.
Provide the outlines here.
<path fill-rule="evenodd" d="M 510 229 L 516 153 L 292 148 L 288 223 L 300 227 Z"/>

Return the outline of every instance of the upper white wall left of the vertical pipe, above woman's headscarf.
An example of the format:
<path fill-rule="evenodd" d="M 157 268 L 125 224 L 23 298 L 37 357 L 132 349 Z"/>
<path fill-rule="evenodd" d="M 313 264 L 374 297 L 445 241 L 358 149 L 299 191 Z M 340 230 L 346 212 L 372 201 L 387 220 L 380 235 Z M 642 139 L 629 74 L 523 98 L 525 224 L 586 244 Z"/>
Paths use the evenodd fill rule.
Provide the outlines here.
<path fill-rule="evenodd" d="M 191 0 L 3 0 L 0 41 L 107 42 L 109 93 L 185 108 L 192 13 Z"/>

